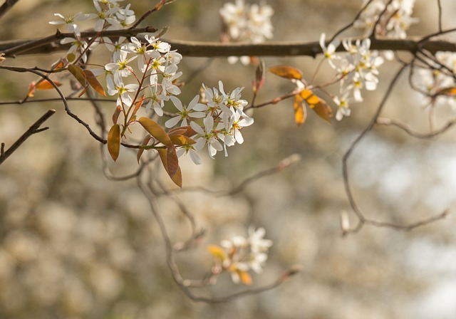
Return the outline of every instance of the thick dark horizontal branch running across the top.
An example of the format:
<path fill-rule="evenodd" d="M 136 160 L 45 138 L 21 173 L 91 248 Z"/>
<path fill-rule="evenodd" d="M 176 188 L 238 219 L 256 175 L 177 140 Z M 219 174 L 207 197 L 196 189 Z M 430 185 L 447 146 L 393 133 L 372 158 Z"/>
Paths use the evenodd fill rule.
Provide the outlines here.
<path fill-rule="evenodd" d="M 138 33 L 153 32 L 155 28 L 138 28 L 115 31 L 82 32 L 81 36 L 136 36 Z M 19 56 L 24 54 L 52 53 L 68 50 L 69 45 L 56 42 L 61 38 L 73 37 L 72 33 L 58 31 L 53 36 L 36 40 L 0 41 L 0 53 L 5 56 Z M 321 47 L 318 42 L 266 42 L 266 43 L 222 43 L 199 42 L 163 39 L 170 43 L 173 50 L 183 56 L 194 57 L 222 57 L 222 56 L 313 56 L 320 54 Z M 430 53 L 437 51 L 456 52 L 456 43 L 443 40 L 425 40 L 421 38 L 408 39 L 379 39 L 371 40 L 371 50 L 408 51 L 416 53 L 425 50 Z M 338 46 L 337 51 L 343 52 L 345 48 Z"/>

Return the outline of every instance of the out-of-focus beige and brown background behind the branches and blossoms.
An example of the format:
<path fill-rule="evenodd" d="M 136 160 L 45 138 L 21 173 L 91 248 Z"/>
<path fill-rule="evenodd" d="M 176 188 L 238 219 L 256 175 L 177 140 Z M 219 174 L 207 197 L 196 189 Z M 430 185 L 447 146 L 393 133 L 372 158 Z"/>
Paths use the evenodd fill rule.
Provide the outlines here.
<path fill-rule="evenodd" d="M 135 1 L 137 16 L 155 5 Z M 437 1 L 417 1 L 413 16 L 420 23 L 408 31 L 420 36 L 437 31 Z M 454 1 L 441 1 L 444 28 L 456 14 Z M 75 4 L 78 8 L 76 9 Z M 177 0 L 147 19 L 147 25 L 170 26 L 168 39 L 219 41 L 218 10 L 224 1 Z M 274 41 L 318 41 L 353 20 L 361 1 L 268 1 Z M 48 21 L 54 13 L 91 12 L 91 1 L 19 1 L 0 20 L 0 38 L 36 38 L 55 32 Z M 346 36 L 356 35 L 348 32 Z M 51 56 L 21 56 L 4 65 L 48 68 Z M 97 56 L 102 63 L 108 56 Z M 403 54 L 403 58 L 410 58 Z M 311 78 L 319 61 L 307 57 L 265 58 L 266 66 L 287 64 Z M 185 80 L 205 58 L 180 64 Z M 211 197 L 185 192 L 180 197 L 207 230 L 195 249 L 179 255 L 182 273 L 200 278 L 212 265 L 208 244 L 247 235 L 250 225 L 266 229 L 274 241 L 264 272 L 254 286 L 270 283 L 291 265 L 301 273 L 274 290 L 237 300 L 195 303 L 172 281 L 165 249 L 150 206 L 135 181 L 112 182 L 103 175 L 100 145 L 68 117 L 61 103 L 0 105 L 0 141 L 9 147 L 49 108 L 56 115 L 50 129 L 33 135 L 0 166 L 0 318 L 455 318 L 455 217 L 413 231 L 365 226 L 341 237 L 339 216 L 347 211 L 356 224 L 343 188 L 341 160 L 349 145 L 370 122 L 398 63 L 380 67 L 378 90 L 365 92 L 352 115 L 331 125 L 309 112 L 301 127 L 294 124 L 290 100 L 255 110 L 255 123 L 245 128 L 244 144 L 230 147 L 229 157 L 202 165 L 182 160 L 184 186 L 224 190 L 274 167 L 293 154 L 293 167 L 249 184 L 242 194 Z M 1 100 L 20 100 L 33 75 L 1 70 Z M 323 67 L 318 80 L 331 78 Z M 180 98 L 190 101 L 201 83 L 232 90 L 245 86 L 252 98 L 254 67 L 229 65 L 216 58 L 192 79 Z M 67 85 L 68 86 L 68 85 Z M 258 102 L 289 92 L 293 86 L 274 75 Z M 68 88 L 63 87 L 63 90 Z M 337 90 L 337 85 L 334 88 Z M 37 92 L 36 98 L 56 97 Z M 334 108 L 335 106 L 332 105 Z M 73 112 L 95 124 L 88 103 L 71 102 Z M 103 104 L 107 115 L 113 105 Z M 437 127 L 454 117 L 450 107 L 437 108 Z M 423 97 L 401 78 L 383 117 L 404 120 L 417 130 L 428 129 Z M 409 223 L 455 209 L 455 130 L 432 140 L 417 140 L 395 127 L 375 127 L 351 156 L 353 191 L 366 216 Z M 122 150 L 110 164 L 115 174 L 137 169 L 135 154 Z M 157 172 L 160 172 L 157 167 Z M 167 179 L 163 179 L 167 182 Z M 170 185 L 171 186 L 171 185 Z M 169 199 L 157 199 L 173 240 L 189 234 L 187 220 Z M 222 276 L 202 290 L 221 296 L 239 290 Z"/>

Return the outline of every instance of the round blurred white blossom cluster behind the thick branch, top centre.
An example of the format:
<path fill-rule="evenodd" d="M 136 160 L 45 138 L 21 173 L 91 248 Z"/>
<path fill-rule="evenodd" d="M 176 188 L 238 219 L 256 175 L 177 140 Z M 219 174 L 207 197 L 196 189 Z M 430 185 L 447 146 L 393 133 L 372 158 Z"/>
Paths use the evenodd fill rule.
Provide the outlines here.
<path fill-rule="evenodd" d="M 236 0 L 235 4 L 224 4 L 219 11 L 222 20 L 227 26 L 227 35 L 230 41 L 244 41 L 259 43 L 272 38 L 274 30 L 271 16 L 274 10 L 267 4 L 244 4 L 244 0 Z M 231 56 L 229 63 L 236 63 L 238 58 Z M 250 63 L 248 56 L 242 56 L 240 61 L 244 65 Z"/>

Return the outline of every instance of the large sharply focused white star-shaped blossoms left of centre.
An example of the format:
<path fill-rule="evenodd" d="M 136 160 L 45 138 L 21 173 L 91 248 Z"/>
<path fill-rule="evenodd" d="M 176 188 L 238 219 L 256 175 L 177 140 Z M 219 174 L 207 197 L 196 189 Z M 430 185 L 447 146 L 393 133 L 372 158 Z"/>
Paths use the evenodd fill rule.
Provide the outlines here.
<path fill-rule="evenodd" d="M 95 44 L 105 43 L 108 50 L 112 52 L 110 63 L 107 63 L 101 70 L 92 70 L 95 75 L 106 74 L 106 85 L 108 95 L 117 95 L 117 105 L 123 114 L 135 103 L 145 105 L 148 113 L 151 109 L 158 116 L 163 115 L 162 108 L 165 101 L 170 100 L 177 113 L 174 117 L 165 122 L 167 128 L 190 125 L 195 131 L 193 138 L 195 145 L 185 145 L 177 150 L 177 155 L 190 154 L 191 159 L 196 164 L 201 163 L 201 159 L 195 150 L 202 149 L 207 145 L 209 156 L 224 150 L 227 156 L 227 147 L 236 142 L 242 144 L 244 139 L 240 130 L 242 127 L 252 125 L 254 120 L 248 117 L 243 109 L 247 105 L 246 100 L 241 99 L 243 88 L 236 88 L 231 93 L 225 93 L 223 84 L 219 82 L 217 88 L 204 88 L 205 103 L 198 103 L 199 95 L 195 96 L 188 105 L 183 105 L 176 97 L 181 93 L 177 81 L 182 75 L 178 71 L 177 64 L 180 63 L 182 55 L 176 51 L 171 51 L 169 43 L 165 43 L 154 36 L 145 35 L 145 41 L 141 42 L 138 38 L 132 37 L 130 41 L 125 37 L 113 41 L 110 38 L 102 38 L 88 44 L 86 39 L 81 38 L 77 21 L 97 18 L 95 30 L 123 28 L 135 21 L 135 13 L 131 11 L 130 4 L 125 8 L 120 7 L 118 0 L 97 1 L 93 4 L 98 14 L 76 14 L 73 16 L 63 16 L 56 14 L 62 21 L 51 21 L 51 24 L 66 24 L 67 31 L 72 32 L 74 38 L 65 38 L 62 43 L 73 43 L 68 56 L 87 60 L 87 51 L 94 48 Z M 258 6 L 250 8 L 252 17 L 264 15 L 264 9 Z M 257 20 L 261 20 L 258 19 Z M 69 60 L 69 59 L 68 59 Z M 133 61 L 135 66 L 133 66 Z M 140 95 L 142 95 L 140 97 Z M 198 124 L 195 119 L 203 118 L 202 123 Z"/>

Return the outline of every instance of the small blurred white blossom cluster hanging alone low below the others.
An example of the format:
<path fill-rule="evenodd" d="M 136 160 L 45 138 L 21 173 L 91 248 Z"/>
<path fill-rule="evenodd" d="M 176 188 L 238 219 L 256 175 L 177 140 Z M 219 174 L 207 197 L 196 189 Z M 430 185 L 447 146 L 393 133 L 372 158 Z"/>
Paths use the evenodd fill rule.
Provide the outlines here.
<path fill-rule="evenodd" d="M 254 229 L 249 227 L 249 237 L 234 236 L 231 240 L 224 240 L 220 244 L 226 255 L 222 268 L 227 269 L 234 283 L 239 282 L 239 276 L 252 270 L 254 273 L 263 271 L 267 251 L 272 246 L 272 241 L 264 239 L 264 228 Z"/>

